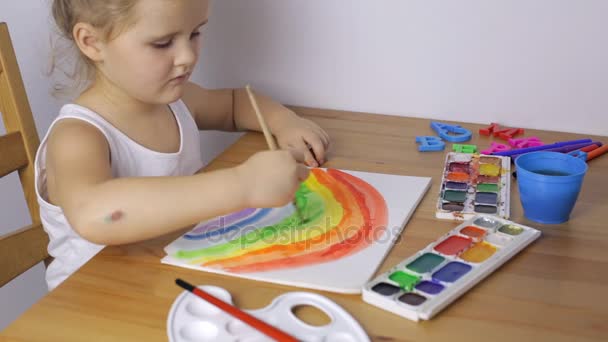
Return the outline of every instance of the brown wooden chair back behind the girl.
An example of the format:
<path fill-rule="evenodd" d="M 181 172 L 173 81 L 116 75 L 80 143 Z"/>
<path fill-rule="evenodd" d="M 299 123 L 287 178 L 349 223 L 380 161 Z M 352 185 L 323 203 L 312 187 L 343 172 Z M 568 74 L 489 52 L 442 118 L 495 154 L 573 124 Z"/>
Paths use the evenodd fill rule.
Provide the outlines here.
<path fill-rule="evenodd" d="M 0 136 L 0 177 L 19 172 L 32 224 L 0 237 L 0 287 L 49 260 L 34 188 L 34 158 L 40 144 L 6 23 L 0 23 L 0 113 L 6 135 Z M 0 225 L 3 224 L 0 217 Z"/>

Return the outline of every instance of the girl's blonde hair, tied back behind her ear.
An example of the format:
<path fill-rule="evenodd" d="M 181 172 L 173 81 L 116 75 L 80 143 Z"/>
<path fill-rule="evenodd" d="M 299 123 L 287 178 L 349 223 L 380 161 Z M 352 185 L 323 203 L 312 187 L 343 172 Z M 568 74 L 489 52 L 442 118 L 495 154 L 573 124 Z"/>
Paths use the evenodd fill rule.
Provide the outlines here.
<path fill-rule="evenodd" d="M 134 8 L 139 0 L 53 0 L 51 13 L 60 40 L 52 42 L 53 56 L 49 75 L 60 73 L 63 80 L 53 87 L 54 95 L 82 90 L 95 77 L 95 65 L 76 46 L 73 29 L 85 22 L 99 29 L 110 41 L 133 24 Z M 66 66 L 71 64 L 71 66 Z M 72 83 L 72 84 L 65 84 Z"/>

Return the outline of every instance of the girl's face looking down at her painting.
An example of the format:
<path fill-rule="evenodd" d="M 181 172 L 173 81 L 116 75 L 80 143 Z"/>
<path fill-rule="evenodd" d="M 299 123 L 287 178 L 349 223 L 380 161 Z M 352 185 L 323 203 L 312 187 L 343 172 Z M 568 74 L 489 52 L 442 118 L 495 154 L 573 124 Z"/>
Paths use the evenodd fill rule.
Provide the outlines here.
<path fill-rule="evenodd" d="M 208 11 L 208 0 L 138 1 L 135 24 L 103 44 L 98 71 L 141 102 L 178 100 L 198 60 Z"/>

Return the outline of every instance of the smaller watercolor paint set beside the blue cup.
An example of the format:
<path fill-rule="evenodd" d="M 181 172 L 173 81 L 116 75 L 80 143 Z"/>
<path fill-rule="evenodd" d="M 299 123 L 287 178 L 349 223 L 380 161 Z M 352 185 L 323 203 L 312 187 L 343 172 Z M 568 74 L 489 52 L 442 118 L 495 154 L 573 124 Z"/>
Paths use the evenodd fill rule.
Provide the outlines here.
<path fill-rule="evenodd" d="M 478 214 L 510 215 L 511 159 L 450 152 L 446 156 L 435 216 L 467 220 Z"/>

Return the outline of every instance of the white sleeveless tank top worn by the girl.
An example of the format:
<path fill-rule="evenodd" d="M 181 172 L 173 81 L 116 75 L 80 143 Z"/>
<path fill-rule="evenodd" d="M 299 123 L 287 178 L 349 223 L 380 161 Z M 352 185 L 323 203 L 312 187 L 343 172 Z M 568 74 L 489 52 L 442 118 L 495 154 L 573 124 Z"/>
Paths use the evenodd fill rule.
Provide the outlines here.
<path fill-rule="evenodd" d="M 181 100 L 170 104 L 169 107 L 179 126 L 180 148 L 176 153 L 161 153 L 143 147 L 99 114 L 75 104 L 67 104 L 61 108 L 59 116 L 53 121 L 48 132 L 59 120 L 67 118 L 83 120 L 97 127 L 108 141 L 114 178 L 192 175 L 203 167 L 198 128 L 190 111 Z M 47 202 L 48 132 L 36 153 L 35 173 L 40 219 L 50 239 L 48 252 L 55 258 L 46 270 L 46 282 L 49 290 L 52 290 L 104 246 L 80 237 L 66 220 L 63 210 Z"/>

